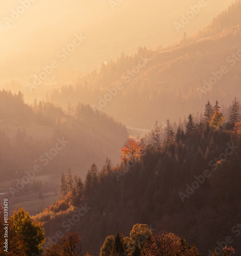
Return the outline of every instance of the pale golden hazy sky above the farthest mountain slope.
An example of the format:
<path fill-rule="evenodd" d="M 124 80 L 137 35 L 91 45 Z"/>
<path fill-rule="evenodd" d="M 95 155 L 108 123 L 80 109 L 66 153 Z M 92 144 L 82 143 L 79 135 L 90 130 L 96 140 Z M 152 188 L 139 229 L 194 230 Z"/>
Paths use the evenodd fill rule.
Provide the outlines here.
<path fill-rule="evenodd" d="M 75 33 L 82 33 L 87 39 L 71 53 L 65 65 L 88 72 L 101 62 L 116 58 L 122 50 L 132 54 L 139 46 L 166 46 L 177 42 L 184 32 L 192 35 L 233 2 L 204 1 L 205 6 L 177 32 L 173 23 L 180 23 L 181 15 L 198 0 L 31 1 L 0 1 L 0 67 L 13 69 L 13 76 L 15 71 L 49 65 L 56 53 L 73 41 Z M 113 6 L 123 3 L 116 4 L 113 10 L 110 2 Z"/>

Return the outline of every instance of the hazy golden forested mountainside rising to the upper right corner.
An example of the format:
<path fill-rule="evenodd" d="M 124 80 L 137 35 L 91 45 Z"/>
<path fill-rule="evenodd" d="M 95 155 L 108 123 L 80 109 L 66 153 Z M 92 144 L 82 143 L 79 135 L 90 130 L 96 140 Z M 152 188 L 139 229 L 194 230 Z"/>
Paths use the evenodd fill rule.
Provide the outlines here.
<path fill-rule="evenodd" d="M 65 107 L 66 99 L 72 104 L 80 100 L 128 126 L 148 129 L 156 119 L 177 121 L 190 109 L 201 112 L 208 99 L 218 97 L 228 105 L 240 95 L 240 8 L 240 1 L 233 3 L 203 31 L 184 34 L 173 46 L 122 53 L 100 71 L 56 89 L 50 100 Z"/>

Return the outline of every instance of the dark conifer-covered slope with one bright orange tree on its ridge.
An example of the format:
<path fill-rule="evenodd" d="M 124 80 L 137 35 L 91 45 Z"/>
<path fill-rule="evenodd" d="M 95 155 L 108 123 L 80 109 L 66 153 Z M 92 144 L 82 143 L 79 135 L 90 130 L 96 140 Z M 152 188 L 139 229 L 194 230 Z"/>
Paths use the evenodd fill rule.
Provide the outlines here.
<path fill-rule="evenodd" d="M 222 251 L 216 241 L 231 235 L 227 246 L 240 253 L 240 237 L 233 233 L 240 220 L 240 144 L 237 99 L 226 120 L 218 101 L 208 101 L 203 118 L 194 121 L 190 114 L 177 132 L 167 120 L 164 140 L 158 123 L 140 141 L 129 139 L 120 165 L 109 159 L 101 169 L 92 164 L 83 182 L 62 174 L 61 201 L 35 218 L 44 222 L 49 240 L 55 230 L 78 230 L 94 255 L 107 236 L 119 229 L 125 238 L 136 223 L 181 234 L 204 255 Z"/>

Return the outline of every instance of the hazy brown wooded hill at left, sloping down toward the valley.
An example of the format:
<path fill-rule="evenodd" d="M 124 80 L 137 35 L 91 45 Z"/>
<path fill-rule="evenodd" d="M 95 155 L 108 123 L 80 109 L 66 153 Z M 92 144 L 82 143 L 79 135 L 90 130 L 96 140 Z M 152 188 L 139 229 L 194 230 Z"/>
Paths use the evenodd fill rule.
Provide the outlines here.
<path fill-rule="evenodd" d="M 20 92 L 0 91 L 0 98 L 0 173 L 3 180 L 14 179 L 11 186 L 35 164 L 46 174 L 58 173 L 71 162 L 84 176 L 84 168 L 93 159 L 98 163 L 107 156 L 119 160 L 119 147 L 128 138 L 126 127 L 104 113 L 95 113 L 89 105 L 78 103 L 64 113 L 43 100 L 27 105 Z M 56 148 L 59 140 L 66 146 Z M 30 190 L 31 182 L 22 189 Z"/>

